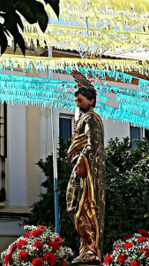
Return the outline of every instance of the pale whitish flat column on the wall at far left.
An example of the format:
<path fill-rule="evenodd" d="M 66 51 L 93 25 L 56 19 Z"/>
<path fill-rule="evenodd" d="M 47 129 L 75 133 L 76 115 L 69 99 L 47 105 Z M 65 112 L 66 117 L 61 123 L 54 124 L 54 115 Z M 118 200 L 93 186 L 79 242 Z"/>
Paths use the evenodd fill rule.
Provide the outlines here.
<path fill-rule="evenodd" d="M 26 106 L 8 105 L 9 205 L 26 206 Z"/>

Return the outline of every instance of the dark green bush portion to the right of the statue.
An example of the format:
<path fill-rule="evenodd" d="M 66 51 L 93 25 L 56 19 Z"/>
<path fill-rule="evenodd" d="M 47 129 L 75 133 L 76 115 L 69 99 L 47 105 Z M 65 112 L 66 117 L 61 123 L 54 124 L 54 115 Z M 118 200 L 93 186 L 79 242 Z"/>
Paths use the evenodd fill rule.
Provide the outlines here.
<path fill-rule="evenodd" d="M 149 143 L 137 141 L 130 148 L 129 138 L 111 139 L 106 148 L 105 252 L 116 239 L 141 228 L 149 230 Z"/>

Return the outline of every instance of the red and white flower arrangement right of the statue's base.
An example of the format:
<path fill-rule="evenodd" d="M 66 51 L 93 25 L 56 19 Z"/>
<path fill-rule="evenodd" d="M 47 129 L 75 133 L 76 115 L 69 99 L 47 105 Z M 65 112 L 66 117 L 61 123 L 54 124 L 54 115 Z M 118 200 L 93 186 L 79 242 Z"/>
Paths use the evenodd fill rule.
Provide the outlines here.
<path fill-rule="evenodd" d="M 149 232 L 141 229 L 132 236 L 115 241 L 113 249 L 105 257 L 103 265 L 149 265 Z"/>

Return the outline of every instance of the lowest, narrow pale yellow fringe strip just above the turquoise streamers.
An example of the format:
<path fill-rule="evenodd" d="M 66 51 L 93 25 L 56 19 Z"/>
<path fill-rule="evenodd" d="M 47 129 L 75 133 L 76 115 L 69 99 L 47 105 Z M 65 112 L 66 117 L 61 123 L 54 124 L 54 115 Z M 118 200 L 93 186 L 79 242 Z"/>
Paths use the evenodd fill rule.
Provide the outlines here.
<path fill-rule="evenodd" d="M 119 70 L 125 72 L 136 71 L 140 74 L 149 74 L 149 64 L 146 60 L 133 60 L 133 59 L 71 59 L 71 58 L 45 58 L 45 57 L 32 57 L 32 56 L 21 56 L 17 54 L 4 54 L 0 57 L 0 65 L 5 68 L 10 68 L 10 60 L 13 69 L 30 69 L 31 66 L 35 70 L 47 71 L 52 69 L 64 70 L 64 66 L 70 66 L 71 69 L 75 66 L 88 67 L 92 69 L 106 69 L 106 70 Z"/>

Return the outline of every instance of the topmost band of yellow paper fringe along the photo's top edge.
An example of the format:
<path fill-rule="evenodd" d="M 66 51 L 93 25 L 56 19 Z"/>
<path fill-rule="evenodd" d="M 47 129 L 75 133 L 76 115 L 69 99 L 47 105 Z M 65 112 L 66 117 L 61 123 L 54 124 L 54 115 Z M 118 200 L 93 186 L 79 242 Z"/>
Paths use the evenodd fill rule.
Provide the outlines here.
<path fill-rule="evenodd" d="M 50 16 L 57 20 L 55 12 L 49 5 L 46 5 L 43 0 L 46 11 Z M 107 17 L 108 16 L 108 17 Z M 70 20 L 76 24 L 77 21 L 86 25 L 86 18 L 92 27 L 96 23 L 101 23 L 100 20 L 109 22 L 110 26 L 116 23 L 127 23 L 130 28 L 145 27 L 148 31 L 147 25 L 149 24 L 147 17 L 149 16 L 148 0 L 61 0 L 60 1 L 60 17 L 63 20 Z"/>

